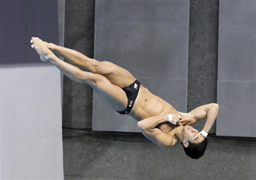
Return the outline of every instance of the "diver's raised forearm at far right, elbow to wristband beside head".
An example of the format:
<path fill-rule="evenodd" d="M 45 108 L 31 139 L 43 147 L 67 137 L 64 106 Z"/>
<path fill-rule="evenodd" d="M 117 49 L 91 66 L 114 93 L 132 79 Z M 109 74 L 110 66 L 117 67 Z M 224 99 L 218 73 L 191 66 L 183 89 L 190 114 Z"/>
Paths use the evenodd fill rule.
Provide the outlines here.
<path fill-rule="evenodd" d="M 219 106 L 213 105 L 207 112 L 206 122 L 205 122 L 204 129 L 203 129 L 206 133 L 208 133 L 210 131 L 210 129 L 217 117 L 218 111 L 219 111 Z"/>

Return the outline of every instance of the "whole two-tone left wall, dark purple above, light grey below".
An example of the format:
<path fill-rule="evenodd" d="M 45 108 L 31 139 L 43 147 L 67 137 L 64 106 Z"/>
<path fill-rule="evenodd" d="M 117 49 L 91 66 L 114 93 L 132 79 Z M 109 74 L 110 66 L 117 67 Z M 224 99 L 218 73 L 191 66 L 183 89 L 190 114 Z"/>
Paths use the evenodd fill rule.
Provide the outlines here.
<path fill-rule="evenodd" d="M 57 1 L 0 1 L 1 179 L 63 179 L 60 71 L 32 36 L 59 43 Z"/>

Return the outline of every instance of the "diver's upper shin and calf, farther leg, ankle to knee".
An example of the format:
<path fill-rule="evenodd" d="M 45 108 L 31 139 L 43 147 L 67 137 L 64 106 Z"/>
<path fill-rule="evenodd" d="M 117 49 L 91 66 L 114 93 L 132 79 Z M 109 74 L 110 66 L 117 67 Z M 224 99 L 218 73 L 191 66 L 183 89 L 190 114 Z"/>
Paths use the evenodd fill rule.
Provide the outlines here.
<path fill-rule="evenodd" d="M 59 54 L 61 57 L 63 57 L 69 63 L 74 64 L 76 66 L 84 67 L 84 63 L 86 63 L 86 61 L 92 60 L 91 58 L 85 56 L 82 53 L 79 53 L 78 51 L 75 51 L 73 49 L 69 49 L 66 47 L 61 47 L 61 46 L 55 45 L 53 43 L 49 43 L 48 48 L 51 51 Z"/>

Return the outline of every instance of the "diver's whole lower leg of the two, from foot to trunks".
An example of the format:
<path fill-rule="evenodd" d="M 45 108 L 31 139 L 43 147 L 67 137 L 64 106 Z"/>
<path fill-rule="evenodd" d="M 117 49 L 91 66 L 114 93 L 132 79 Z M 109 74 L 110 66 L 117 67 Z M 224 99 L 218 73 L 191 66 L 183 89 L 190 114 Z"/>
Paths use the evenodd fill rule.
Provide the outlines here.
<path fill-rule="evenodd" d="M 39 38 L 33 39 L 32 48 L 35 48 L 42 61 L 50 61 L 63 74 L 73 81 L 87 83 L 90 85 L 105 101 L 112 105 L 117 111 L 123 111 L 127 106 L 127 97 L 125 92 L 118 86 L 110 83 L 108 79 L 99 74 L 82 71 L 76 66 L 61 61 L 52 51 L 46 47 Z"/>

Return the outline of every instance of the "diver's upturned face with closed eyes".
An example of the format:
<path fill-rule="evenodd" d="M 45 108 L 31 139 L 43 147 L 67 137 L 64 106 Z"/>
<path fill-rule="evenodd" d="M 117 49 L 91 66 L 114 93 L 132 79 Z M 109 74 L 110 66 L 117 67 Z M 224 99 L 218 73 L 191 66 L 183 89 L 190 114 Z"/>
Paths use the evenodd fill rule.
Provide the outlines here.
<path fill-rule="evenodd" d="M 192 143 L 200 143 L 204 140 L 204 136 L 191 126 L 184 127 L 184 140 Z"/>

